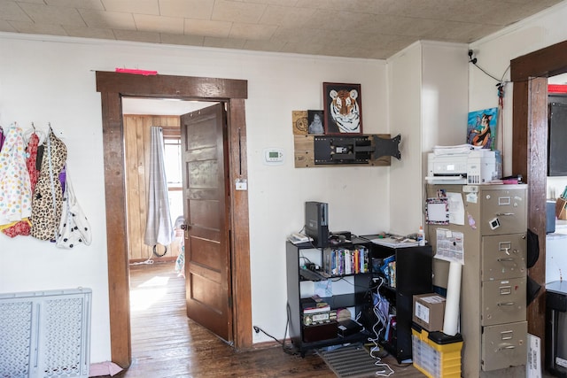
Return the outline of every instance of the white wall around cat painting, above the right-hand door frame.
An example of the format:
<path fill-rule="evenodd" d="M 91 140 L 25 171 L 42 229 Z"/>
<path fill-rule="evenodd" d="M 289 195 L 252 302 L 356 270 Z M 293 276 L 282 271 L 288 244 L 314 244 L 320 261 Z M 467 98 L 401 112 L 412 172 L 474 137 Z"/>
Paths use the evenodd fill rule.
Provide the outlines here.
<path fill-rule="evenodd" d="M 506 28 L 478 42 L 470 44 L 478 58 L 477 65 L 487 73 L 504 81 L 509 81 L 510 60 L 540 50 L 552 44 L 567 40 L 567 2 L 562 2 L 545 12 L 524 19 L 522 22 Z M 566 62 L 567 63 L 567 62 Z M 482 73 L 477 67 L 470 66 L 469 97 L 470 111 L 477 111 L 498 106 L 495 85 L 498 81 Z M 503 172 L 512 172 L 512 84 L 505 86 L 503 124 L 500 126 L 503 135 Z"/>

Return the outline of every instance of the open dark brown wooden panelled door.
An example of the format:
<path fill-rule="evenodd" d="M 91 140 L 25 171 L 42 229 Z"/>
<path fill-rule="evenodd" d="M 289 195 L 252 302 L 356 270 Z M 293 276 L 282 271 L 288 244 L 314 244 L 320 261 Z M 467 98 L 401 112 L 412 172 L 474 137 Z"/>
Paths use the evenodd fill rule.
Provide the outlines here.
<path fill-rule="evenodd" d="M 224 104 L 181 116 L 187 316 L 233 341 Z"/>

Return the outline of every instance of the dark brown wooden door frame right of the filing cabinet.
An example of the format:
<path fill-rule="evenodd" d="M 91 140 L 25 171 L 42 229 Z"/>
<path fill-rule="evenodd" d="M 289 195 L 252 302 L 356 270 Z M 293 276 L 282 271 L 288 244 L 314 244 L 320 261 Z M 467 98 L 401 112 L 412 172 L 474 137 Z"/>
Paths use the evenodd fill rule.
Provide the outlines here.
<path fill-rule="evenodd" d="M 513 91 L 512 172 L 528 183 L 528 228 L 539 236 L 540 258 L 529 269 L 540 295 L 527 308 L 528 332 L 545 345 L 546 199 L 548 167 L 548 77 L 567 72 L 567 41 L 510 62 Z M 541 360 L 545 350 L 541 349 Z"/>

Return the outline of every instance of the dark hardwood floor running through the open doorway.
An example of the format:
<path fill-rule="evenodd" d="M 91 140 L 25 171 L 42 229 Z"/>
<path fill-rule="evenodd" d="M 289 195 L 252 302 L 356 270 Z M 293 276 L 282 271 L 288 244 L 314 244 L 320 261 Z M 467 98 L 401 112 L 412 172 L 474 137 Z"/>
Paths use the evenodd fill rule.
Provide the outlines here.
<path fill-rule="evenodd" d="M 305 358 L 274 346 L 235 351 L 185 316 L 183 277 L 173 263 L 130 266 L 132 365 L 119 378 L 335 377 L 315 353 Z M 383 362 L 402 378 L 423 377 L 391 356 Z M 371 376 L 376 376 L 372 374 Z"/>

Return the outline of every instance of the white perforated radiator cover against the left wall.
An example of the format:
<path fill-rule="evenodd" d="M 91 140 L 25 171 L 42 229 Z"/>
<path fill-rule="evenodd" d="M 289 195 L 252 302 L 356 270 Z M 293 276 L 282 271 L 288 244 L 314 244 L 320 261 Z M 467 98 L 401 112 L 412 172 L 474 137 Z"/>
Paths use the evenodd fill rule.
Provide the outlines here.
<path fill-rule="evenodd" d="M 0 378 L 89 377 L 91 289 L 0 294 Z"/>

